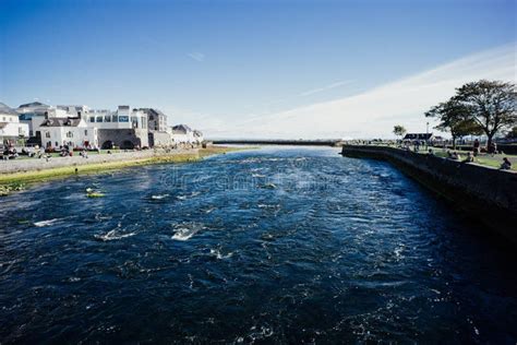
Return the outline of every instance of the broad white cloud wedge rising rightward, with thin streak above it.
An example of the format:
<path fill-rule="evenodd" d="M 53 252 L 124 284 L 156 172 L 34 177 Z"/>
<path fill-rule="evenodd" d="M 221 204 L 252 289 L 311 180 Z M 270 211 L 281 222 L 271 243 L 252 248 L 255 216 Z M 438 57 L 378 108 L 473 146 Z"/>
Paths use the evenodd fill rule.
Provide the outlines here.
<path fill-rule="evenodd" d="M 392 138 L 395 124 L 422 132 L 428 121 L 423 114 L 453 96 L 462 84 L 481 79 L 515 83 L 516 48 L 515 43 L 505 45 L 357 95 L 243 119 L 231 127 L 219 127 L 215 121 L 204 130 L 211 138 L 272 139 Z M 308 93 L 324 92 L 340 83 Z"/>

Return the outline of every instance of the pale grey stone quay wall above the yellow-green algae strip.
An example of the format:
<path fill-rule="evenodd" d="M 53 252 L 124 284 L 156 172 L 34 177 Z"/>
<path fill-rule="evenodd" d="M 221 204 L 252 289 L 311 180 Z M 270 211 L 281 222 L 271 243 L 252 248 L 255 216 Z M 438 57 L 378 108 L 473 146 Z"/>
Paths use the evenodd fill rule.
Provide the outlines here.
<path fill-rule="evenodd" d="M 14 160 L 0 160 L 0 174 L 12 174 L 21 171 L 35 171 L 51 168 L 62 167 L 74 167 L 86 164 L 98 164 L 108 162 L 123 162 L 123 160 L 135 160 L 145 159 L 153 156 L 170 156 L 178 154 L 192 154 L 196 155 L 197 150 L 172 150 L 165 152 L 163 150 L 144 150 L 144 151 L 131 151 L 121 152 L 113 154 L 95 154 L 89 155 L 88 158 L 79 156 L 79 153 L 74 152 L 76 156 L 72 157 L 52 157 L 48 162 L 45 158 L 31 158 L 31 159 L 14 159 Z"/>

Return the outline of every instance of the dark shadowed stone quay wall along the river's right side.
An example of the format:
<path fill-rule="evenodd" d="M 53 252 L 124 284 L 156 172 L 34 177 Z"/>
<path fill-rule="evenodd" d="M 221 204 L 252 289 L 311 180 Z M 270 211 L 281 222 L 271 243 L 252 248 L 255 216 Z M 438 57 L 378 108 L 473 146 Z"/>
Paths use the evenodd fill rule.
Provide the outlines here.
<path fill-rule="evenodd" d="M 346 145 L 342 155 L 387 160 L 456 209 L 517 245 L 517 174 L 387 146 Z"/>

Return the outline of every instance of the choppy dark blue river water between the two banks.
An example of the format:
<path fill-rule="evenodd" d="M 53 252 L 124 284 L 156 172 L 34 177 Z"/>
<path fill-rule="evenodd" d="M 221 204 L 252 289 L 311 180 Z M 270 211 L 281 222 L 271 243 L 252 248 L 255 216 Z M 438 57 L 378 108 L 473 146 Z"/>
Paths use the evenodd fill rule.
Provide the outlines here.
<path fill-rule="evenodd" d="M 512 250 L 390 165 L 337 152 L 263 148 L 0 199 L 0 343 L 514 344 Z"/>

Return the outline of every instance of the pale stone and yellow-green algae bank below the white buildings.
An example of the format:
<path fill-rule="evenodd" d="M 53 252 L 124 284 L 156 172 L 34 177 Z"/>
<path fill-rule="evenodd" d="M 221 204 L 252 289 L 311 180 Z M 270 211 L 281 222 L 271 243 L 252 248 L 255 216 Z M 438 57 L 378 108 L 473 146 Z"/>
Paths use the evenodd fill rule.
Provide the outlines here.
<path fill-rule="evenodd" d="M 192 150 L 147 150 L 139 152 L 122 152 L 104 155 L 91 155 L 88 158 L 55 157 L 45 159 L 21 159 L 0 162 L 0 195 L 23 190 L 25 185 L 62 178 L 72 175 L 98 174 L 128 167 L 196 162 L 204 157 L 225 154 L 244 147 L 212 146 Z"/>

